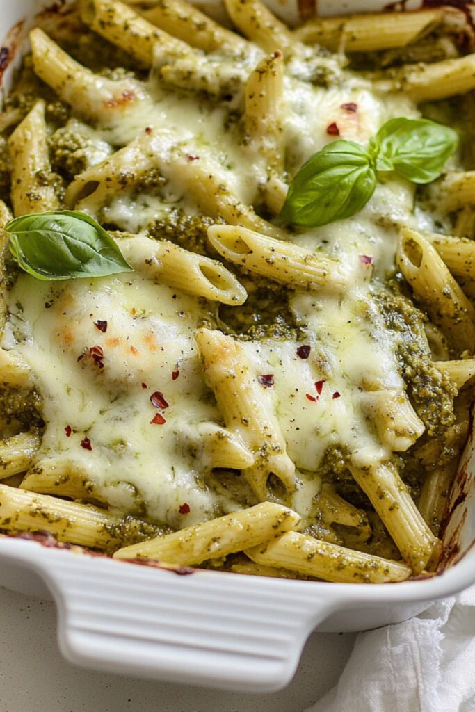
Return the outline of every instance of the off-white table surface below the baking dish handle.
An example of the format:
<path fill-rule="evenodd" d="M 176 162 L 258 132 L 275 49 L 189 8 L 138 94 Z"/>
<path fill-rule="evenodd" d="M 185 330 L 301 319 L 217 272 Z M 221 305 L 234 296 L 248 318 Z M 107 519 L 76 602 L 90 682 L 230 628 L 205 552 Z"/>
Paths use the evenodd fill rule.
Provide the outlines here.
<path fill-rule="evenodd" d="M 56 644 L 54 604 L 0 587 L 0 712 L 303 712 L 338 680 L 355 635 L 310 636 L 281 692 L 199 689 L 67 663 Z"/>

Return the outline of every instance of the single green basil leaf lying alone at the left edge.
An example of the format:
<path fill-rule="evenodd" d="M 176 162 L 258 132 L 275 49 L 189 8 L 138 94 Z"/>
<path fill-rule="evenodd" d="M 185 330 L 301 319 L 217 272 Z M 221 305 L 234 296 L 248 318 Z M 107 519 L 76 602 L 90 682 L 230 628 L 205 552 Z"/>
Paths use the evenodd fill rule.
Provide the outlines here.
<path fill-rule="evenodd" d="M 133 271 L 113 238 L 78 210 L 23 215 L 5 226 L 19 266 L 37 279 L 103 277 Z"/>

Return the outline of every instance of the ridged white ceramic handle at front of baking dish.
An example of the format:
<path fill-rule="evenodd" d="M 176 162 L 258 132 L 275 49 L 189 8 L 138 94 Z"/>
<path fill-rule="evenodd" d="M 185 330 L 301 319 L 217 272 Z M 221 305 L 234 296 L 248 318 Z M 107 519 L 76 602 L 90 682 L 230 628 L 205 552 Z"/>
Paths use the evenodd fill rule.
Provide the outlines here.
<path fill-rule="evenodd" d="M 58 555 L 61 565 L 47 563 Z M 310 632 L 335 609 L 305 582 L 201 571 L 178 577 L 57 551 L 40 562 L 69 661 L 177 683 L 281 689 Z M 289 583 L 297 584 L 292 595 Z"/>

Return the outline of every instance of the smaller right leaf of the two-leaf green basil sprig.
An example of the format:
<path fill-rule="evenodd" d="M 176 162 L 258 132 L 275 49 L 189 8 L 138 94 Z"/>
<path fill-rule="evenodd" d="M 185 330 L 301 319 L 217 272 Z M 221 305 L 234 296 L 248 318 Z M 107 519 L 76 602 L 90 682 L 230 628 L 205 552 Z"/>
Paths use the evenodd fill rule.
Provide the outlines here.
<path fill-rule="evenodd" d="M 456 132 L 428 119 L 391 119 L 375 137 L 378 171 L 397 171 L 413 183 L 430 183 L 439 177 L 454 153 Z"/>

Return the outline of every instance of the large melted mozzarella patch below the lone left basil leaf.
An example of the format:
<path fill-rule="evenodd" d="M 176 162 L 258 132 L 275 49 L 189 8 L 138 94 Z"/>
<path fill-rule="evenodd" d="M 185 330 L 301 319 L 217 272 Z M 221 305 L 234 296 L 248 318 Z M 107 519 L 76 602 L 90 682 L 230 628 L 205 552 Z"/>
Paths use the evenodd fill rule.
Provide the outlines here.
<path fill-rule="evenodd" d="M 21 304 L 11 319 L 17 350 L 43 396 L 36 471 L 76 473 L 98 498 L 132 511 L 143 502 L 147 515 L 174 526 L 183 502 L 187 523 L 212 516 L 215 501 L 199 483 L 202 463 L 188 434 L 193 424 L 219 420 L 194 342 L 205 315 L 198 301 L 138 273 L 53 286 L 25 275 L 11 300 Z M 107 321 L 105 333 L 97 320 Z M 94 346 L 103 349 L 103 367 L 89 355 Z M 152 405 L 154 392 L 167 408 Z M 162 425 L 151 423 L 157 412 Z M 92 450 L 81 446 L 85 437 Z"/>

